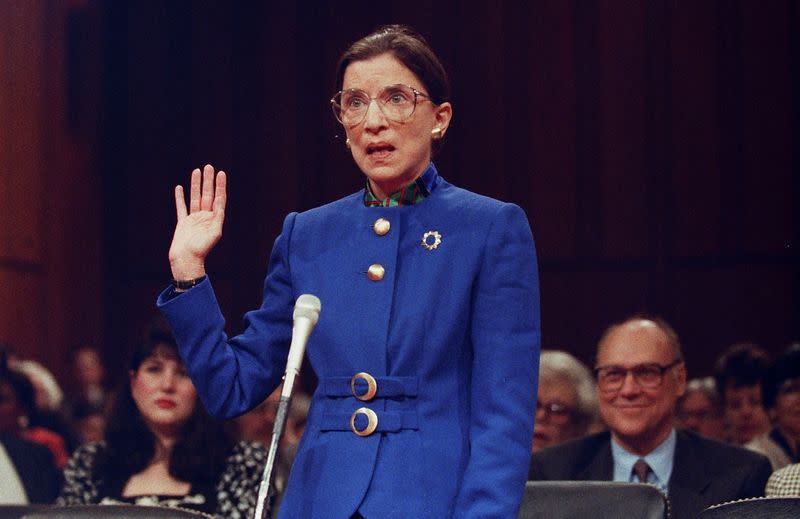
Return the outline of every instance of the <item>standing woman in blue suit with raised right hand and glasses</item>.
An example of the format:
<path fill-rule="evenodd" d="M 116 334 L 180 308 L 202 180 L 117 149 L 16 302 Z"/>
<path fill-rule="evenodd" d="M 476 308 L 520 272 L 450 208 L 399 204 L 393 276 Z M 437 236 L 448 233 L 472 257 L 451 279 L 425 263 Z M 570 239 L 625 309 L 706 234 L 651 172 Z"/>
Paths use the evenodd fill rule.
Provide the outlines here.
<path fill-rule="evenodd" d="M 175 190 L 158 305 L 209 411 L 241 414 L 280 382 L 292 308 L 324 311 L 307 347 L 319 378 L 280 516 L 516 517 L 539 354 L 533 237 L 517 206 L 455 187 L 431 163 L 452 117 L 425 40 L 388 26 L 342 56 L 331 100 L 366 187 L 286 217 L 261 307 L 236 337 L 204 263 L 222 234 L 226 175 Z"/>

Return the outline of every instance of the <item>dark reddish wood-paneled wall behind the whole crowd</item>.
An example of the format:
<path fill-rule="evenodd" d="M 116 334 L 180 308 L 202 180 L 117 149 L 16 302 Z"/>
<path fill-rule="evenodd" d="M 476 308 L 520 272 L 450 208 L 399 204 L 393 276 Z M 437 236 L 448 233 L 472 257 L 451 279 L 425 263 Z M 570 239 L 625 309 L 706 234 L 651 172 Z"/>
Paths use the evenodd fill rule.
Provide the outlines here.
<path fill-rule="evenodd" d="M 207 162 L 230 175 L 209 270 L 237 331 L 285 214 L 362 185 L 333 69 L 390 22 L 450 72 L 442 174 L 530 218 L 545 347 L 590 362 L 649 311 L 700 375 L 800 338 L 796 1 L 0 0 L 0 341 L 118 366 L 169 278 L 172 188 Z"/>

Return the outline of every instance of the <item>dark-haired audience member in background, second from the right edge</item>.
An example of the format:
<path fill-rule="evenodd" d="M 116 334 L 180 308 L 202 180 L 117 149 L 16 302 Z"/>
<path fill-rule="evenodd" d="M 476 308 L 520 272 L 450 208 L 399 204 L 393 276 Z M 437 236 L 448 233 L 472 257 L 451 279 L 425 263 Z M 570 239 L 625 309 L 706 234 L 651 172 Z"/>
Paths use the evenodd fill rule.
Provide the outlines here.
<path fill-rule="evenodd" d="M 714 378 L 733 443 L 744 445 L 769 430 L 761 394 L 768 367 L 766 352 L 752 343 L 734 344 L 717 360 Z"/>

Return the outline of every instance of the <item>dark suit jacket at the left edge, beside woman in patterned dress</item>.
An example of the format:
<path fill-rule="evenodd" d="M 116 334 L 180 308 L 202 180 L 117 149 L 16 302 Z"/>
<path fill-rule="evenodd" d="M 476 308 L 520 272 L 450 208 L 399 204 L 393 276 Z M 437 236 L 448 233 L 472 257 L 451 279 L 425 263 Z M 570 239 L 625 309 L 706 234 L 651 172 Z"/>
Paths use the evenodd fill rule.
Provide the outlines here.
<path fill-rule="evenodd" d="M 17 475 L 28 494 L 28 502 L 50 504 L 55 501 L 61 490 L 61 472 L 56 468 L 50 450 L 38 443 L 6 434 L 0 435 L 0 443 L 17 469 Z"/>

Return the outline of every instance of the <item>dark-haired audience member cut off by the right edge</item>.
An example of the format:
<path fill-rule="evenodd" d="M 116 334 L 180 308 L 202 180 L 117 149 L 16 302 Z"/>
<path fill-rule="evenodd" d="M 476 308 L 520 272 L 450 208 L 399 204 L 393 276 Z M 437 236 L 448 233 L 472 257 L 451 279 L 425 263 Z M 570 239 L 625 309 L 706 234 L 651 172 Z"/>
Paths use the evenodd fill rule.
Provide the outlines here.
<path fill-rule="evenodd" d="M 774 470 L 800 462 L 800 344 L 790 346 L 770 366 L 763 396 L 775 427 L 746 447 L 768 457 Z"/>

